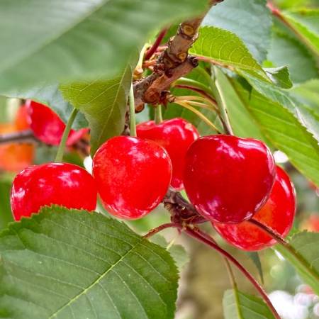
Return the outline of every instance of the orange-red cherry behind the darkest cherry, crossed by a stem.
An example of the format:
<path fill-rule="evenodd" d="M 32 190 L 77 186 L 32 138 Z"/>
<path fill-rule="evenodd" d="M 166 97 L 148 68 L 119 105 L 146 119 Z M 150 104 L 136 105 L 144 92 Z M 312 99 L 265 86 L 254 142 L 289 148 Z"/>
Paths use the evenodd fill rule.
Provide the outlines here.
<path fill-rule="evenodd" d="M 253 218 L 284 237 L 293 225 L 296 211 L 295 197 L 289 176 L 283 169 L 277 167 L 272 193 L 267 203 L 254 214 Z M 220 223 L 213 225 L 220 236 L 241 250 L 262 250 L 276 244 L 276 240 L 249 221 L 234 225 Z"/>

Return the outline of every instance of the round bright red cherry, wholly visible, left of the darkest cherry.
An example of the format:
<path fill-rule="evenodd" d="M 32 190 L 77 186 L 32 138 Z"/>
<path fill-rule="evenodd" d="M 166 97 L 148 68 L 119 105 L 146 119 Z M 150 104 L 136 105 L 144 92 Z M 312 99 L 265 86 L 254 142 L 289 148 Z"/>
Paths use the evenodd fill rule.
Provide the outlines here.
<path fill-rule="evenodd" d="M 117 136 L 93 158 L 93 175 L 106 210 L 124 219 L 150 213 L 164 198 L 172 178 L 172 162 L 152 140 Z"/>

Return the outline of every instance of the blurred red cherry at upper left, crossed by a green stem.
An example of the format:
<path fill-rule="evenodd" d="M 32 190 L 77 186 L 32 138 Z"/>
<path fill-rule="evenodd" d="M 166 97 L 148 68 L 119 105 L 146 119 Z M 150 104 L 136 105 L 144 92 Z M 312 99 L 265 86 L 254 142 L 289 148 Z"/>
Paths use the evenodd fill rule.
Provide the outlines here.
<path fill-rule="evenodd" d="M 57 113 L 53 112 L 48 106 L 31 100 L 26 102 L 26 108 L 30 128 L 33 130 L 35 137 L 45 142 L 45 144 L 59 145 L 65 130 L 65 123 L 62 122 Z M 67 146 L 80 140 L 87 131 L 87 128 L 77 131 L 71 130 L 67 138 Z"/>

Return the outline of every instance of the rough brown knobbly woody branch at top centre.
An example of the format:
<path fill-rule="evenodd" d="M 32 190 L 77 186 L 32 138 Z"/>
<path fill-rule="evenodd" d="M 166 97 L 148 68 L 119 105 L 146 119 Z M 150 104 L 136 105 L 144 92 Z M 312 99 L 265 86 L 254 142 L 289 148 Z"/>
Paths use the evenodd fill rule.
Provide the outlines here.
<path fill-rule="evenodd" d="M 208 10 L 221 1 L 223 0 L 210 0 Z M 154 72 L 134 84 L 137 112 L 142 111 L 144 103 L 161 103 L 170 84 L 197 66 L 196 58 L 189 56 L 189 48 L 198 38 L 198 29 L 207 11 L 197 18 L 181 23 L 174 38 L 169 40 L 167 48 L 159 55 Z"/>

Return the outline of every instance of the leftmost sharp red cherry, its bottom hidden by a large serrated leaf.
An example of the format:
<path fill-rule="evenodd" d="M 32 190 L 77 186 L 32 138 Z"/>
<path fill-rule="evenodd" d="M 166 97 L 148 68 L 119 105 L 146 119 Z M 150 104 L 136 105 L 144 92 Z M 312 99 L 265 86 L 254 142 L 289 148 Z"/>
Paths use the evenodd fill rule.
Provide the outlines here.
<path fill-rule="evenodd" d="M 82 167 L 49 163 L 30 166 L 16 176 L 11 189 L 11 210 L 15 220 L 52 204 L 93 211 L 96 198 L 96 183 Z"/>

